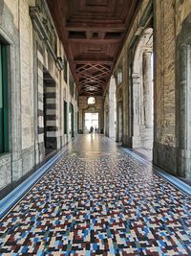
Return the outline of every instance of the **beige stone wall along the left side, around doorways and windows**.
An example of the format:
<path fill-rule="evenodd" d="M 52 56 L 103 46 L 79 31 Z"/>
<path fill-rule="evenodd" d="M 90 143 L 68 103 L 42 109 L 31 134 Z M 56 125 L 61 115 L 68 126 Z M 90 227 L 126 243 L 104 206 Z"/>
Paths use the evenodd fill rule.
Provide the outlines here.
<path fill-rule="evenodd" d="M 43 3 L 44 18 L 52 23 L 56 50 L 53 50 L 51 44 L 47 44 L 33 25 L 31 8 L 35 7 L 39 1 Z M 47 91 L 50 106 L 47 114 L 52 118 L 54 111 L 56 117 L 53 122 L 48 120 L 47 132 L 53 140 L 56 139 L 55 150 L 59 150 L 72 139 L 69 128 L 68 133 L 64 134 L 64 100 L 73 104 L 74 118 L 78 108 L 75 93 L 71 95 L 68 82 L 64 81 L 63 63 L 59 59 L 65 57 L 65 52 L 53 27 L 46 1 L 2 0 L 0 11 L 0 40 L 6 42 L 10 49 L 10 151 L 0 154 L 1 190 L 11 182 L 19 180 L 23 175 L 27 175 L 36 164 L 45 159 L 44 134 L 40 133 L 44 130 L 44 70 L 49 73 L 55 84 L 53 88 L 47 89 L 50 90 Z M 67 115 L 69 115 L 69 109 Z M 74 124 L 76 124 L 75 120 Z M 75 133 L 76 126 L 74 126 Z"/>

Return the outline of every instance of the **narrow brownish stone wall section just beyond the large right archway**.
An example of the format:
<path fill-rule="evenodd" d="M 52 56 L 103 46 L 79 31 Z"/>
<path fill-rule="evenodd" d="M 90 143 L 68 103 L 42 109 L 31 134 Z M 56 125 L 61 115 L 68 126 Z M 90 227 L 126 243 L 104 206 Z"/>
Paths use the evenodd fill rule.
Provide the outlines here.
<path fill-rule="evenodd" d="M 145 10 L 149 6 L 149 2 L 149 0 L 143 0 L 141 5 L 139 5 L 138 12 L 135 14 L 134 23 L 132 23 L 132 27 L 126 35 L 124 46 L 119 57 L 117 58 L 117 63 L 114 70 L 114 74 L 116 76 L 117 66 L 121 62 L 122 82 L 117 85 L 117 141 L 122 140 L 122 143 L 128 147 L 132 147 L 133 136 L 131 99 L 132 89 L 130 77 L 130 65 L 132 64 L 133 54 L 131 48 L 132 45 L 135 45 L 138 42 L 138 35 L 140 35 L 143 31 L 140 21 Z M 123 112 L 122 116 L 120 114 L 121 117 L 118 115 L 118 113 L 121 111 L 120 109 L 122 109 Z"/>

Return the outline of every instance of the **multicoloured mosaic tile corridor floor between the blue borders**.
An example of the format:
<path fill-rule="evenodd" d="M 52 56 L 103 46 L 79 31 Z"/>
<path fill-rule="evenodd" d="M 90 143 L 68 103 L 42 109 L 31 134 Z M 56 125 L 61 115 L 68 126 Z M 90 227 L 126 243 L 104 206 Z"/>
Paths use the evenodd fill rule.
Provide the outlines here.
<path fill-rule="evenodd" d="M 0 255 L 191 255 L 191 200 L 109 139 L 80 135 L 0 222 Z"/>

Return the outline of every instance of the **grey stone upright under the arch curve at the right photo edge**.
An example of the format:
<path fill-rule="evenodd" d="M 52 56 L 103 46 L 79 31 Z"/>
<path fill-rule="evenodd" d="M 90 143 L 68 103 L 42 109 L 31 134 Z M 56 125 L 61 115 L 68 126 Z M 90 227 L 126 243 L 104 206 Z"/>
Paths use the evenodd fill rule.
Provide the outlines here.
<path fill-rule="evenodd" d="M 179 67 L 179 102 L 176 105 L 179 113 L 179 175 L 191 178 L 191 45 L 180 46 Z"/>

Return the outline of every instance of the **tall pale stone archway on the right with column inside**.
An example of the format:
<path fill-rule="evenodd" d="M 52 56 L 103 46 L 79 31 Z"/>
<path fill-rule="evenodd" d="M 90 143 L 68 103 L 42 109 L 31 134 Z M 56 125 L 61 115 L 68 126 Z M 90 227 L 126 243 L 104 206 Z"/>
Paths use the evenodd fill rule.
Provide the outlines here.
<path fill-rule="evenodd" d="M 133 148 L 153 148 L 153 98 L 151 57 L 153 29 L 147 28 L 138 38 L 132 66 Z"/>

